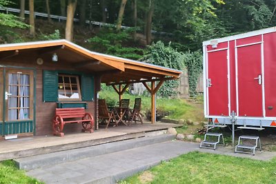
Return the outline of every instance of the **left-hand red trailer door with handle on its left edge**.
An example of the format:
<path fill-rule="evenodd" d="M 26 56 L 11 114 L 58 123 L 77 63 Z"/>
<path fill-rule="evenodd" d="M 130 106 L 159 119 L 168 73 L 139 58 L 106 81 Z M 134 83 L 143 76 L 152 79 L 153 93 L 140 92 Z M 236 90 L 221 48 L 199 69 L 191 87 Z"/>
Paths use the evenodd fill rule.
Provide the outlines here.
<path fill-rule="evenodd" d="M 207 53 L 208 114 L 228 116 L 227 49 Z"/>

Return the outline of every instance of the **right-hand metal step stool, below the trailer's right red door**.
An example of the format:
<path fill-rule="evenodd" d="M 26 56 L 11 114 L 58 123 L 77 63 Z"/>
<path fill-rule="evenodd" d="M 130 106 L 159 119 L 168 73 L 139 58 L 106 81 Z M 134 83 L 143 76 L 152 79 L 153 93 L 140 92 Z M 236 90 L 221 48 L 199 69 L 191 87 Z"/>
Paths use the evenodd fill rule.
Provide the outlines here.
<path fill-rule="evenodd" d="M 246 139 L 255 140 L 255 145 L 244 144 L 241 142 L 242 140 L 246 140 Z M 251 153 L 251 152 L 245 152 L 244 150 L 253 150 L 253 155 L 255 155 L 255 149 L 258 147 L 258 144 L 259 144 L 259 150 L 262 151 L 261 139 L 259 139 L 259 136 L 239 136 L 239 142 L 235 147 L 235 153 L 237 152 Z M 238 148 L 242 150 L 238 150 Z"/>

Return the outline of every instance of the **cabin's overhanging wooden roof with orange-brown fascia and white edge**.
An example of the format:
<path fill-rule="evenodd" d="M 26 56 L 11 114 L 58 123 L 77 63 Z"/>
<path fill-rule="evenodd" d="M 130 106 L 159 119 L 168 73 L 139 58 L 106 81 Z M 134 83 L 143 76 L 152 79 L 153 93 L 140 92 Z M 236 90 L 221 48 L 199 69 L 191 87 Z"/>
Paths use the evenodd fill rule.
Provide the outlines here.
<path fill-rule="evenodd" d="M 182 73 L 180 70 L 159 65 L 92 52 L 65 39 L 0 45 L 0 59 L 10 57 L 14 53 L 35 54 L 37 58 L 46 60 L 51 59 L 52 54 L 56 53 L 59 61 L 71 63 L 79 70 L 100 74 L 103 83 L 177 79 Z"/>

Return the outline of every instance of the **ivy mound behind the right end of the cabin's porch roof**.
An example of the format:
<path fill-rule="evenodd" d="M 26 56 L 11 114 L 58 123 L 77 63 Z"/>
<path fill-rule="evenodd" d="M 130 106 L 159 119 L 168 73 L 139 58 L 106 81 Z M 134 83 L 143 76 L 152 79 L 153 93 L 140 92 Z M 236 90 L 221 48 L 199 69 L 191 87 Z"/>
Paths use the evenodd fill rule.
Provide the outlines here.
<path fill-rule="evenodd" d="M 165 46 L 161 41 L 152 43 L 152 45 L 148 47 L 148 52 L 141 60 L 166 68 L 174 68 L 177 70 L 184 68 L 184 54 L 177 52 L 177 50 L 170 47 L 170 45 Z M 166 81 L 159 89 L 158 94 L 162 97 L 175 97 L 178 85 L 178 80 Z"/>

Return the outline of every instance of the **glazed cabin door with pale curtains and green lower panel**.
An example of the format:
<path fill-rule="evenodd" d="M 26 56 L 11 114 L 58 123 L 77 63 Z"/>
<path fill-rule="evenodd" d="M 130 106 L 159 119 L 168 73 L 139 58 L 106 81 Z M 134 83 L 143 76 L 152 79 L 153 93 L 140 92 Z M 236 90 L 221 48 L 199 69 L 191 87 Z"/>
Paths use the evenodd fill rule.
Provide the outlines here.
<path fill-rule="evenodd" d="M 0 69 L 3 86 L 2 135 L 32 134 L 34 129 L 34 74 L 32 70 Z"/>

